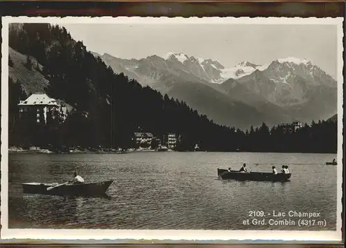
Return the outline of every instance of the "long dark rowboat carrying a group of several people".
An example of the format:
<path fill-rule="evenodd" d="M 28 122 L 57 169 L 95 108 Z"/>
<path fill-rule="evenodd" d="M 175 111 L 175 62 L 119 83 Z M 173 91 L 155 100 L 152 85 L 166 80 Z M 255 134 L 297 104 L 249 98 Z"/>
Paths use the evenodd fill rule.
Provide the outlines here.
<path fill-rule="evenodd" d="M 235 179 L 239 181 L 289 181 L 291 173 L 273 173 L 266 172 L 239 172 L 237 170 L 217 169 L 217 175 L 221 179 Z"/>

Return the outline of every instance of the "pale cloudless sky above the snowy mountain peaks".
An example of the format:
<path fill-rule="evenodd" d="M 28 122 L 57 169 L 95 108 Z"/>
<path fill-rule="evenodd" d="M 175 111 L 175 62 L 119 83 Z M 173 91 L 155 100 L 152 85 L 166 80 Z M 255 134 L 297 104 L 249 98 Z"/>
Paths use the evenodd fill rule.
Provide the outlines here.
<path fill-rule="evenodd" d="M 168 52 L 217 60 L 225 67 L 277 58 L 310 60 L 336 78 L 334 25 L 292 24 L 62 24 L 97 53 L 140 59 Z"/>

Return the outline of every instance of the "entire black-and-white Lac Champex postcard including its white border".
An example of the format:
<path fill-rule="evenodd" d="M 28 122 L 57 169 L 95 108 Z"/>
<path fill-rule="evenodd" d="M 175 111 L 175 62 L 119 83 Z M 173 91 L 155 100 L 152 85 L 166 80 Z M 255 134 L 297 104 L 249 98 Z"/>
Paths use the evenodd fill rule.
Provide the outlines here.
<path fill-rule="evenodd" d="M 2 236 L 341 240 L 342 21 L 3 17 Z"/>

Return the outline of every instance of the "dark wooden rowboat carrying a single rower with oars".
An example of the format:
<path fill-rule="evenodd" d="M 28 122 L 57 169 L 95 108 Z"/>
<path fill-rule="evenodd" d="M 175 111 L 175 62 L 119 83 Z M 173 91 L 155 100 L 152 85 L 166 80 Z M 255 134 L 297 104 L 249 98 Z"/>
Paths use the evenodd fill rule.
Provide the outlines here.
<path fill-rule="evenodd" d="M 24 193 L 42 194 L 42 195 L 85 195 L 98 196 L 105 195 L 111 181 L 100 181 L 89 184 L 66 184 L 47 191 L 48 187 L 57 186 L 58 184 L 42 183 L 25 183 L 23 186 Z"/>

